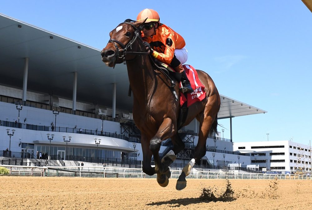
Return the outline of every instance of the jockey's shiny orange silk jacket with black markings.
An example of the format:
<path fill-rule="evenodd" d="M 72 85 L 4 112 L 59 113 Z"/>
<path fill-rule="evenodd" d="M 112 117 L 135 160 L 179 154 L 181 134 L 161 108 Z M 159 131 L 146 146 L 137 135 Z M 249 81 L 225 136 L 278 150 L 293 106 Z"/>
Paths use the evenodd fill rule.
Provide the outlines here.
<path fill-rule="evenodd" d="M 154 49 L 153 57 L 169 65 L 173 59 L 174 50 L 183 48 L 185 41 L 171 28 L 161 25 L 152 38 L 151 46 Z"/>

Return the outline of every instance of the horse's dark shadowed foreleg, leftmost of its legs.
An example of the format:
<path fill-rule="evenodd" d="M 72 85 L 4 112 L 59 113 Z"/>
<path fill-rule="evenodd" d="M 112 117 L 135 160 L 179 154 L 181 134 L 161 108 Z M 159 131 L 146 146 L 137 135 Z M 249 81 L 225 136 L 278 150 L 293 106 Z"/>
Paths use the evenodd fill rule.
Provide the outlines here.
<path fill-rule="evenodd" d="M 141 133 L 141 145 L 142 145 L 142 152 L 143 152 L 143 172 L 147 175 L 154 175 L 155 167 L 151 166 L 151 159 L 152 159 L 152 151 L 149 149 L 149 141 L 147 140 L 144 133 Z"/>

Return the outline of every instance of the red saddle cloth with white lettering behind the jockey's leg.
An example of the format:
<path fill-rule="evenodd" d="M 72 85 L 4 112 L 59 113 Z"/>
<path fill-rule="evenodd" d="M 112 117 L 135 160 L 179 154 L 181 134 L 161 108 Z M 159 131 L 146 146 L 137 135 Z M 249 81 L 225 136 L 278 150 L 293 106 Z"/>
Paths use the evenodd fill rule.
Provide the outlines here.
<path fill-rule="evenodd" d="M 180 105 L 187 102 L 188 107 L 197 101 L 201 101 L 206 97 L 205 86 L 200 82 L 195 68 L 191 65 L 183 65 L 184 71 L 193 88 L 193 92 L 187 93 L 187 98 L 184 94 L 180 94 Z M 181 86 L 181 84 L 180 84 Z"/>

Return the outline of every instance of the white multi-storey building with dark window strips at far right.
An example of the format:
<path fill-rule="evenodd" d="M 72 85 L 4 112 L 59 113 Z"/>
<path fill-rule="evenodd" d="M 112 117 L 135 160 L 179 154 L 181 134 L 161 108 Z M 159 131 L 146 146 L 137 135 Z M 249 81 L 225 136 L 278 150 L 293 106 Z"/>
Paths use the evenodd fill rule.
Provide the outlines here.
<path fill-rule="evenodd" d="M 237 142 L 234 151 L 251 153 L 251 164 L 274 171 L 311 171 L 310 146 L 292 141 Z"/>

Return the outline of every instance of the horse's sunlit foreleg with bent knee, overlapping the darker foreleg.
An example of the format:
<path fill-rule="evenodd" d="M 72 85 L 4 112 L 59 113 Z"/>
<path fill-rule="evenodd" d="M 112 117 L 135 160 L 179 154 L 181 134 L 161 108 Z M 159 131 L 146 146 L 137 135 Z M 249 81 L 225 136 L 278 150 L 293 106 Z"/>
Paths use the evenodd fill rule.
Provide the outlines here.
<path fill-rule="evenodd" d="M 164 139 L 167 139 L 173 135 L 173 133 L 175 132 L 174 128 L 175 125 L 173 125 L 172 120 L 170 118 L 166 118 L 160 125 L 156 135 L 150 140 L 149 148 L 154 155 L 155 172 L 157 173 L 157 182 L 162 187 L 166 187 L 168 185 L 169 183 L 168 176 L 170 177 L 170 175 L 168 174 L 168 167 L 164 169 L 160 161 L 159 149 L 161 146 L 161 142 Z"/>

